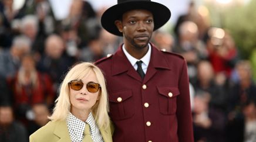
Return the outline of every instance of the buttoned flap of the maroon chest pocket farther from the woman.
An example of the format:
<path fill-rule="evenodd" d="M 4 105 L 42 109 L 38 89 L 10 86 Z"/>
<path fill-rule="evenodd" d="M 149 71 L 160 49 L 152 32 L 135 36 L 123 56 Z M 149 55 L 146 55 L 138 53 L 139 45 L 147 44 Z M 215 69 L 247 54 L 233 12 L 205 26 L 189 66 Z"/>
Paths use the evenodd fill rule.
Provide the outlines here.
<path fill-rule="evenodd" d="M 178 91 L 177 87 L 157 86 L 157 90 L 161 95 L 166 96 L 168 98 L 171 98 L 180 94 L 180 91 Z"/>

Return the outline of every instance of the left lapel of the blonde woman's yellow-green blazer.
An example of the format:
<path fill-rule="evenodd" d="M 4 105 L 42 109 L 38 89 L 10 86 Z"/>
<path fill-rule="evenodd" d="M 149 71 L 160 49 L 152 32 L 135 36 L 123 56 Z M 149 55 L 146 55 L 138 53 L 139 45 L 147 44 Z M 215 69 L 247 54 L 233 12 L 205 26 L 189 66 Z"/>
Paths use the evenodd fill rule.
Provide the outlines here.
<path fill-rule="evenodd" d="M 56 127 L 53 133 L 58 136 L 59 142 L 70 142 L 71 138 L 69 136 L 68 126 L 65 121 L 56 122 Z"/>

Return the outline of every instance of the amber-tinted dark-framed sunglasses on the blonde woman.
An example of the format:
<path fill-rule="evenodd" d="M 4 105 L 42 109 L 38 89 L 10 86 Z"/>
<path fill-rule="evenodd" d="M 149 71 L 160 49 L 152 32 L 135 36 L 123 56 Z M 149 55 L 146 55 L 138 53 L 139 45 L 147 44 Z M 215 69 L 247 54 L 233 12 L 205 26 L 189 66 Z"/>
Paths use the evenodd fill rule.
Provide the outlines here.
<path fill-rule="evenodd" d="M 69 86 L 71 89 L 79 91 L 80 89 L 83 88 L 83 82 L 78 81 L 78 80 L 72 80 L 69 82 Z M 95 93 L 95 92 L 99 91 L 99 88 L 101 88 L 101 86 L 100 86 L 100 84 L 97 84 L 95 82 L 88 82 L 86 84 L 86 88 L 89 92 Z"/>

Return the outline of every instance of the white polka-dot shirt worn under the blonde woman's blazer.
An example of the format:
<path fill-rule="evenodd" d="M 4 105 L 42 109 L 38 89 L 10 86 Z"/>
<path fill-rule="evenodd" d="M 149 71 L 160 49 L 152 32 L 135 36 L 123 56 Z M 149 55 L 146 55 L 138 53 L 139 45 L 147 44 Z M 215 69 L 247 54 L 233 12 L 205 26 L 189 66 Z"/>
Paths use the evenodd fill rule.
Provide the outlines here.
<path fill-rule="evenodd" d="M 72 113 L 69 113 L 66 122 L 68 125 L 69 136 L 72 142 L 83 141 L 83 131 L 85 130 L 86 123 L 88 123 L 90 126 L 92 140 L 94 142 L 103 142 L 103 138 L 100 134 L 99 127 L 97 127 L 97 124 L 95 123 L 95 119 L 92 115 L 92 112 L 89 113 L 86 123 L 76 118 L 74 115 L 72 115 Z"/>

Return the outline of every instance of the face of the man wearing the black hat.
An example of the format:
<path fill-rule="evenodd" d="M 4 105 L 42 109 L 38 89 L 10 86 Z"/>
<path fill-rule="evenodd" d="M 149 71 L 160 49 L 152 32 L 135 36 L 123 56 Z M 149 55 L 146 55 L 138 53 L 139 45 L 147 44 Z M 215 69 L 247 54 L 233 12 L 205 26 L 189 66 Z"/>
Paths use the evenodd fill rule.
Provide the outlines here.
<path fill-rule="evenodd" d="M 126 46 L 143 49 L 151 39 L 154 21 L 151 12 L 143 9 L 128 11 L 123 14 L 122 21 L 116 20 L 116 26 L 123 32 Z"/>

